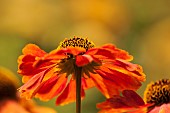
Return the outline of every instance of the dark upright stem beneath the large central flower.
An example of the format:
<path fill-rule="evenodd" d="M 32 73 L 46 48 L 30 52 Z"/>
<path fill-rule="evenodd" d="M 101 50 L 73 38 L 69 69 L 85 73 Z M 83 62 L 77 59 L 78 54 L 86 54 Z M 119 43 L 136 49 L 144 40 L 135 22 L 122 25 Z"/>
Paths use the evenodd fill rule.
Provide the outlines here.
<path fill-rule="evenodd" d="M 81 72 L 82 72 L 82 67 L 77 67 L 75 65 L 76 113 L 81 113 Z"/>

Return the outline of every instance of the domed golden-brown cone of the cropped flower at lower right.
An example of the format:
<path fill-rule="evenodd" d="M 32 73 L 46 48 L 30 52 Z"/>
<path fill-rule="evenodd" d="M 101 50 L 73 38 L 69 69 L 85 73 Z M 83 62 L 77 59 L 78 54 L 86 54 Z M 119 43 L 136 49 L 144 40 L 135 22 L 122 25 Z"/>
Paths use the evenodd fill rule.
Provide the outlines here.
<path fill-rule="evenodd" d="M 160 106 L 170 102 L 170 80 L 161 79 L 147 86 L 144 99 L 146 103 L 154 103 L 154 106 Z"/>

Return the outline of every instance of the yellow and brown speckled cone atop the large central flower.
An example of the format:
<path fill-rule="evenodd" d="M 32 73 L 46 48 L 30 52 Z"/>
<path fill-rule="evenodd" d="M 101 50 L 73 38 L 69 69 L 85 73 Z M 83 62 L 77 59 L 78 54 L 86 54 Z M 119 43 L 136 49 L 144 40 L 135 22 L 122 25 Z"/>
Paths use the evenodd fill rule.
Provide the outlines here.
<path fill-rule="evenodd" d="M 71 39 L 65 39 L 63 42 L 60 42 L 58 48 L 67 48 L 67 47 L 82 47 L 86 51 L 90 48 L 93 48 L 95 45 L 93 42 L 89 41 L 87 38 L 74 37 Z"/>

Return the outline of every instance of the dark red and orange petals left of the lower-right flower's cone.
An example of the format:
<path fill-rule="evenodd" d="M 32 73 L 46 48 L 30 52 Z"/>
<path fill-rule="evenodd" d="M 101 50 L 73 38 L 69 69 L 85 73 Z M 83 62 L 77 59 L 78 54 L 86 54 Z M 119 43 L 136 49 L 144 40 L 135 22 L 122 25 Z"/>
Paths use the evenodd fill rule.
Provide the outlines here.
<path fill-rule="evenodd" d="M 145 113 L 150 104 L 145 104 L 142 98 L 132 90 L 124 90 L 123 96 L 115 95 L 105 102 L 97 104 L 99 113 Z"/>

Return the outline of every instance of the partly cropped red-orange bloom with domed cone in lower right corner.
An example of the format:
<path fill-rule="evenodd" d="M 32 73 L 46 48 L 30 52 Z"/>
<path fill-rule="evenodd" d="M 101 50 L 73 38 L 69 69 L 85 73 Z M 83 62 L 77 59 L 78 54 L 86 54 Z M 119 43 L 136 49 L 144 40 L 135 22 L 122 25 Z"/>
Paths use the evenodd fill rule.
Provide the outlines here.
<path fill-rule="evenodd" d="M 169 79 L 150 83 L 145 90 L 144 100 L 132 90 L 124 90 L 122 95 L 97 104 L 101 109 L 99 113 L 169 113 Z"/>

